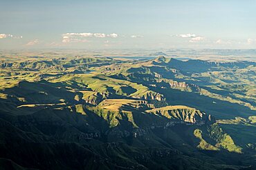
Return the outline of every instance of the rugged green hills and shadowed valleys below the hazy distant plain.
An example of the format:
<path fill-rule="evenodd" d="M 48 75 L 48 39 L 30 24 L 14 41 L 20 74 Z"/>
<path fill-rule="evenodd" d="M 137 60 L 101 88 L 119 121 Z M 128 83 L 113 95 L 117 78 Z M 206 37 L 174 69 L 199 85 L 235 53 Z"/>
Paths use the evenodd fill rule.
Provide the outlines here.
<path fill-rule="evenodd" d="M 256 63 L 165 56 L 1 61 L 1 167 L 255 169 Z"/>

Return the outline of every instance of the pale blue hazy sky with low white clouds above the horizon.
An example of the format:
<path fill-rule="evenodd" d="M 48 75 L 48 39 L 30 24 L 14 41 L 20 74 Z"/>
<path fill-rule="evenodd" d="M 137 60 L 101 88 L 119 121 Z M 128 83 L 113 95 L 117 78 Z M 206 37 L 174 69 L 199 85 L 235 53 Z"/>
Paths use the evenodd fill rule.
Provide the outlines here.
<path fill-rule="evenodd" d="M 254 0 L 0 0 L 0 49 L 256 48 Z"/>

